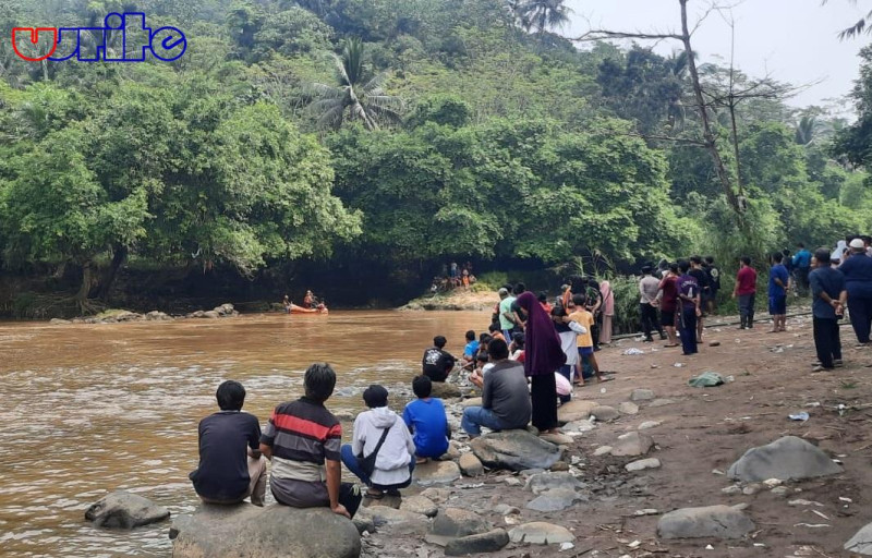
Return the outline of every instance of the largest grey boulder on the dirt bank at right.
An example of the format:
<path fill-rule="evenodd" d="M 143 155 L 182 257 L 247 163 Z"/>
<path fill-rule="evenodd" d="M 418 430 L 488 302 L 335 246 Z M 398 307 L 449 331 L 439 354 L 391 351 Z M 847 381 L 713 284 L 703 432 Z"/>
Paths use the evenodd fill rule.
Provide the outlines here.
<path fill-rule="evenodd" d="M 730 478 L 753 483 L 768 478 L 802 480 L 841 473 L 843 469 L 816 446 L 785 436 L 767 446 L 751 448 L 729 468 Z"/>

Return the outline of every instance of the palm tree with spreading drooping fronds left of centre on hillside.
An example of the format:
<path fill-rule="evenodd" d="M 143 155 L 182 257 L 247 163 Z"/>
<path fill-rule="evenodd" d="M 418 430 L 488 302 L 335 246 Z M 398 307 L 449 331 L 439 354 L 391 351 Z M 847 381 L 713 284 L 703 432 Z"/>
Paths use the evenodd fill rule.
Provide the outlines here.
<path fill-rule="evenodd" d="M 311 85 L 313 101 L 308 108 L 319 114 L 318 126 L 339 128 L 346 120 L 360 120 L 367 130 L 376 130 L 379 121 L 399 120 L 402 100 L 383 89 L 386 73 L 371 75 L 360 38 L 347 39 L 342 56 L 332 57 L 337 84 Z"/>

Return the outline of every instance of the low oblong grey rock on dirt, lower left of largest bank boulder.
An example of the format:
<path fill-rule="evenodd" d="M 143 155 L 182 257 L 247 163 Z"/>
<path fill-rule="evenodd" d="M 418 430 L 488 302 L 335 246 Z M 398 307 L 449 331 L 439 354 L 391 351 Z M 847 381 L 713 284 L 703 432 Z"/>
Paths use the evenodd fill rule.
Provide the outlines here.
<path fill-rule="evenodd" d="M 683 508 L 663 515 L 657 523 L 662 538 L 741 538 L 754 523 L 729 506 Z"/>

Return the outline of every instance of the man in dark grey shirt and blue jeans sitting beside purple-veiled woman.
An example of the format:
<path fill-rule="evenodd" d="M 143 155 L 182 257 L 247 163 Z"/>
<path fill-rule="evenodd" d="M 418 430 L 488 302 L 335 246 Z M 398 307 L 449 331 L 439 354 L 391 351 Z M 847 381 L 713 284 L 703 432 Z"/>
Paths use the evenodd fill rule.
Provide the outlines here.
<path fill-rule="evenodd" d="M 482 426 L 492 430 L 525 428 L 532 405 L 523 364 L 509 360 L 506 341 L 488 345 L 494 367 L 484 375 L 482 405 L 463 410 L 461 427 L 471 438 L 482 434 Z"/>

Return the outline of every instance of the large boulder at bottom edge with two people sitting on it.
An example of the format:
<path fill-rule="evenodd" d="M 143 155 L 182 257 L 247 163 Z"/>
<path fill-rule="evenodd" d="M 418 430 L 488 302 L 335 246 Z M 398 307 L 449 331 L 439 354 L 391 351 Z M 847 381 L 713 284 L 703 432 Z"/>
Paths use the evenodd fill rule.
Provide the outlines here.
<path fill-rule="evenodd" d="M 320 533 L 325 536 L 313 536 Z M 329 536 L 326 536 L 328 535 Z M 173 558 L 356 558 L 361 537 L 327 508 L 204 506 L 172 544 Z"/>

